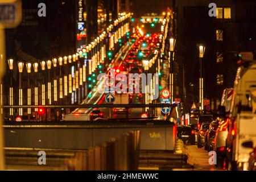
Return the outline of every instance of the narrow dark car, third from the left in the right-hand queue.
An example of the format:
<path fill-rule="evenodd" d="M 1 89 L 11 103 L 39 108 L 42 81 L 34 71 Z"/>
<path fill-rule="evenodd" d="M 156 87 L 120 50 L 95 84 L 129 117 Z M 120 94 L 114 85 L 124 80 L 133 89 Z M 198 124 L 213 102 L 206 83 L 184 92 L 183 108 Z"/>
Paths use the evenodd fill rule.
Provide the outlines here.
<path fill-rule="evenodd" d="M 217 128 L 218 128 L 217 120 L 213 120 L 212 122 L 210 122 L 209 129 L 205 133 L 205 138 L 204 138 L 205 150 L 208 150 L 208 151 L 214 150 L 214 138 L 216 135 Z"/>

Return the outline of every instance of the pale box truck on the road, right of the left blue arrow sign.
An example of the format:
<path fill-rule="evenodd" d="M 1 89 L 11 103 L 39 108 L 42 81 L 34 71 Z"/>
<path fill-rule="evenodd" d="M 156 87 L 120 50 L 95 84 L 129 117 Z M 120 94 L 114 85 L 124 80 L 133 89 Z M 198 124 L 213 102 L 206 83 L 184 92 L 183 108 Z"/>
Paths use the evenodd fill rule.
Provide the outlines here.
<path fill-rule="evenodd" d="M 129 105 L 129 94 L 128 93 L 115 94 L 114 104 Z M 126 108 L 126 107 L 114 107 L 113 108 L 113 112 L 115 114 L 126 113 L 126 112 L 129 112 L 129 111 L 130 111 L 129 108 Z"/>

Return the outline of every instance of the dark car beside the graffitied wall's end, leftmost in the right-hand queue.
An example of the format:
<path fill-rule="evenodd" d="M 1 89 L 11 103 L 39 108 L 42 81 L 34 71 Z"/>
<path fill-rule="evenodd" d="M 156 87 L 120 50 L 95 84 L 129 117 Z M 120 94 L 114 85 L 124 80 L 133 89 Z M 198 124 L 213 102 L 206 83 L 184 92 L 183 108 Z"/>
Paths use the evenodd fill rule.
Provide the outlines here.
<path fill-rule="evenodd" d="M 184 143 L 195 144 L 195 130 L 188 125 L 177 126 L 177 138 L 183 140 Z"/>

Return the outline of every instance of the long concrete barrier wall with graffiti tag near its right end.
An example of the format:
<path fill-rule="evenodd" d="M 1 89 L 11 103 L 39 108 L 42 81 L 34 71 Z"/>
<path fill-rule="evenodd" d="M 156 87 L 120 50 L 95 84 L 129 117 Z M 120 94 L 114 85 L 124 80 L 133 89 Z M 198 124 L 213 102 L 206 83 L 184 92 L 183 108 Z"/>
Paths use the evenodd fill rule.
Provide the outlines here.
<path fill-rule="evenodd" d="M 174 150 L 176 125 L 164 120 L 5 122 L 5 146 L 88 150 L 90 146 L 141 131 L 141 150 Z"/>

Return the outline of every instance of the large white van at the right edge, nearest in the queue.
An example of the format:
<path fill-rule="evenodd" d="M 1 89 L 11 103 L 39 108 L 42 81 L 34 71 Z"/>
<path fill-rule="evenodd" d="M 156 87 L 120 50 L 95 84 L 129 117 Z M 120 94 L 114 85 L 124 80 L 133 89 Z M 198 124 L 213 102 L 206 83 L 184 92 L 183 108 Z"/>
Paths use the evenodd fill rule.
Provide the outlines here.
<path fill-rule="evenodd" d="M 247 170 L 250 148 L 242 143 L 256 143 L 256 63 L 237 69 L 234 81 L 226 151 L 228 168 Z"/>

